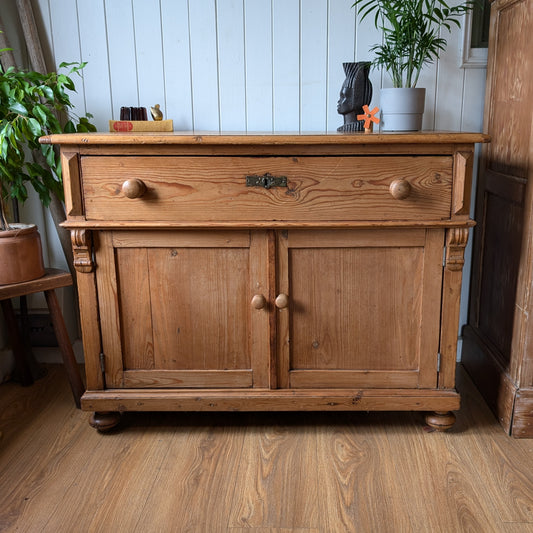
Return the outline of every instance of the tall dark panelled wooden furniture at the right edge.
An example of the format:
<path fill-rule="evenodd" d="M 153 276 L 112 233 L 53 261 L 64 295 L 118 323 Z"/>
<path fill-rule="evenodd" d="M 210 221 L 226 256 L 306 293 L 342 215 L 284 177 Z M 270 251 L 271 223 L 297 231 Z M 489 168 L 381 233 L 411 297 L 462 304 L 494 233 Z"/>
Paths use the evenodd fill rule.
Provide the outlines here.
<path fill-rule="evenodd" d="M 491 6 L 483 147 L 462 362 L 507 431 L 533 436 L 533 2 Z"/>

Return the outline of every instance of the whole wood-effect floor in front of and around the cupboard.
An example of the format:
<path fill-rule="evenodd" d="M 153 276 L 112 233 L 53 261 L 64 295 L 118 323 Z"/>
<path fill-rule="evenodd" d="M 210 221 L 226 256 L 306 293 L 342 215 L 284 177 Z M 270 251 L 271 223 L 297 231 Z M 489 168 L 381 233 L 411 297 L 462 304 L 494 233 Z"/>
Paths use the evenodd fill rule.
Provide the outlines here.
<path fill-rule="evenodd" d="M 533 440 L 459 388 L 446 434 L 420 413 L 135 413 L 101 435 L 51 366 L 0 385 L 0 531 L 533 532 Z"/>

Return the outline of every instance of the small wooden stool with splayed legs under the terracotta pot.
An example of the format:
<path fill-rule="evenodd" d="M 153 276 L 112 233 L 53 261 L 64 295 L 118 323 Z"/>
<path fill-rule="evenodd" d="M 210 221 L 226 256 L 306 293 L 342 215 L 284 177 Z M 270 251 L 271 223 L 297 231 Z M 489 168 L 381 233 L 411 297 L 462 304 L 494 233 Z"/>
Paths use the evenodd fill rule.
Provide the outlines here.
<path fill-rule="evenodd" d="M 0 304 L 2 311 L 6 318 L 7 329 L 15 355 L 15 364 L 18 365 L 18 370 L 22 376 L 22 382 L 32 383 L 28 362 L 24 355 L 24 347 L 20 339 L 19 329 L 13 311 L 11 298 L 17 296 L 26 296 L 35 292 L 44 292 L 46 304 L 50 310 L 52 323 L 54 324 L 54 331 L 57 338 L 61 355 L 63 356 L 63 363 L 67 371 L 68 380 L 74 395 L 74 401 L 78 409 L 80 408 L 80 398 L 85 387 L 80 376 L 80 369 L 74 356 L 72 344 L 68 337 L 67 328 L 59 308 L 57 296 L 54 289 L 60 287 L 68 287 L 72 285 L 72 276 L 63 270 L 56 268 L 47 268 L 46 274 L 42 278 L 34 279 L 32 281 L 24 281 L 22 283 L 13 283 L 11 285 L 0 285 Z"/>

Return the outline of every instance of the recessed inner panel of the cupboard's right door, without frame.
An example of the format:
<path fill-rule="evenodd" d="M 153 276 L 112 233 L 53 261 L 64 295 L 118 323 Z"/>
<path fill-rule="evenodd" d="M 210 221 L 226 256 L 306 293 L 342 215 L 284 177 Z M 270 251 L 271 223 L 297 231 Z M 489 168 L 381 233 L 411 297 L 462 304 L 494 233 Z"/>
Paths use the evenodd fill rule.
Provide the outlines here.
<path fill-rule="evenodd" d="M 406 273 L 423 248 L 297 248 L 289 261 L 292 369 L 417 368 L 422 287 Z"/>

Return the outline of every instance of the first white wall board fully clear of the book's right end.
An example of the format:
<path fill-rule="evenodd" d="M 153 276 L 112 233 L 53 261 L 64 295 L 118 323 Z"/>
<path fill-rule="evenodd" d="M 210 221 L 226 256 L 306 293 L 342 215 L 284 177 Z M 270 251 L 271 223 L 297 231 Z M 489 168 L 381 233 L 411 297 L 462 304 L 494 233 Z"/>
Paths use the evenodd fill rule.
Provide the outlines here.
<path fill-rule="evenodd" d="M 215 0 L 189 0 L 193 126 L 220 130 Z"/>

